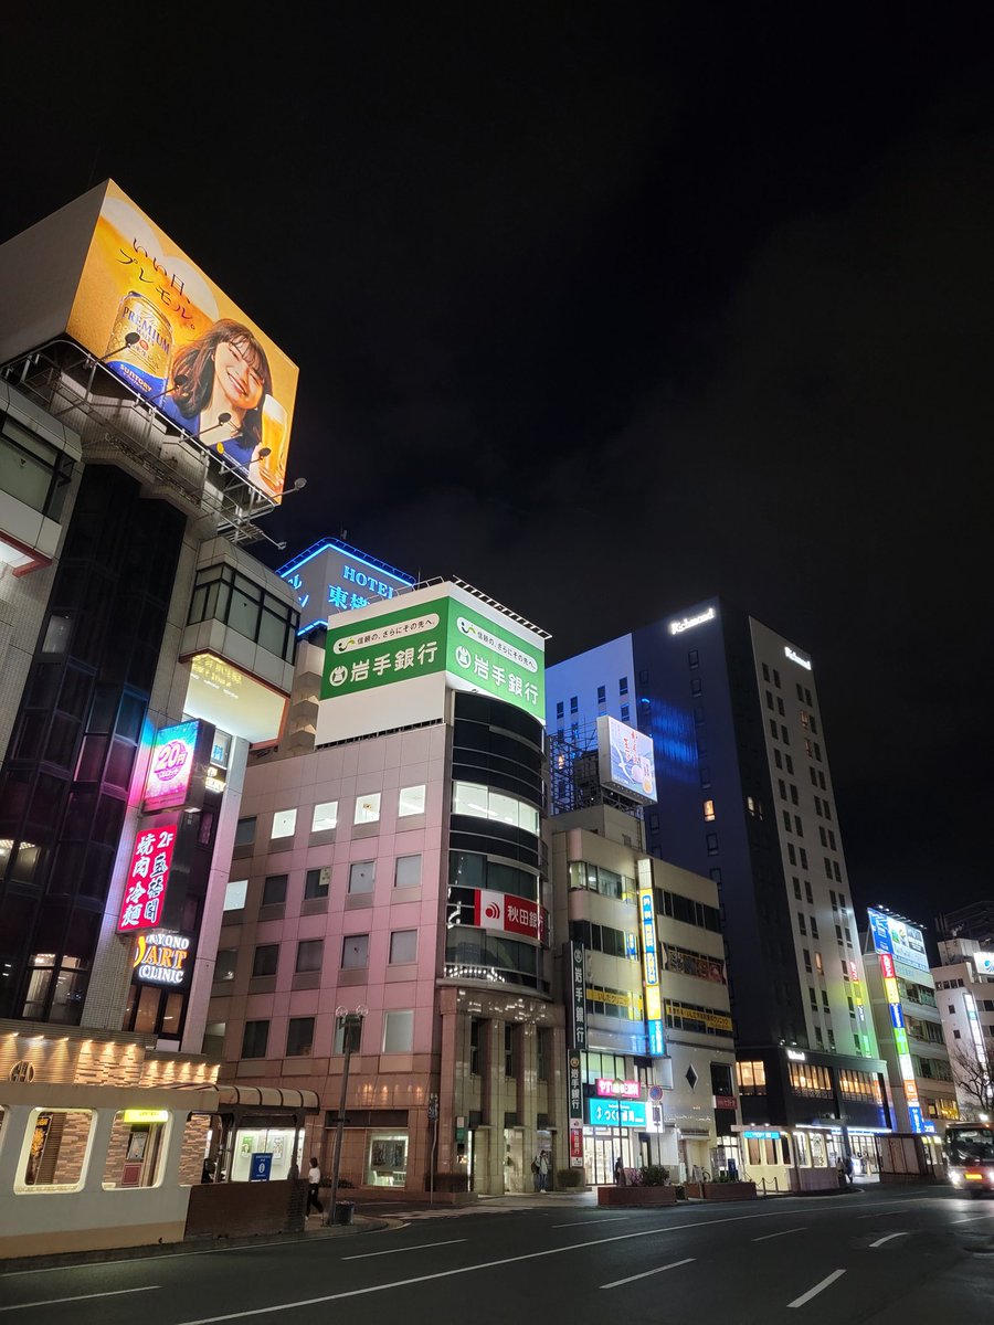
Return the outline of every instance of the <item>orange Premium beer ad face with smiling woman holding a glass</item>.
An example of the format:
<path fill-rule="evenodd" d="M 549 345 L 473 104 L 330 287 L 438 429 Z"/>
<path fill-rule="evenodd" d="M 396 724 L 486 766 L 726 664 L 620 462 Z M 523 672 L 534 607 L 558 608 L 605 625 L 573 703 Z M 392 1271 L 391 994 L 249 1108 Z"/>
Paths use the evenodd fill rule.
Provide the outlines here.
<path fill-rule="evenodd" d="M 101 187 L 68 334 L 171 424 L 278 500 L 296 364 L 113 180 Z"/>

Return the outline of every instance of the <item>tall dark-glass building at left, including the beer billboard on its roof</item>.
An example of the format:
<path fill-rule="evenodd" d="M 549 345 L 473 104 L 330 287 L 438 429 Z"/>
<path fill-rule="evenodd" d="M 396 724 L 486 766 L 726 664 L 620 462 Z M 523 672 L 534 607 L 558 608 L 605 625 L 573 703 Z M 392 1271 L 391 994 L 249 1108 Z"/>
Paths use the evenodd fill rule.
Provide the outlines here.
<path fill-rule="evenodd" d="M 221 408 L 235 378 L 244 408 Z M 200 1051 L 241 775 L 282 727 L 300 620 L 243 545 L 284 497 L 296 379 L 113 183 L 0 246 L 0 1019 L 33 1092 L 0 1132 L 4 1195 L 61 1171 L 56 1086 L 109 1098 L 119 1063 L 138 1089 L 137 1059 L 159 1084 L 216 1076 Z M 74 1080 L 86 1032 L 103 1068 Z M 147 1151 L 151 1189 L 150 1126 L 97 1134 Z M 135 1161 L 103 1174 L 81 1143 L 81 1190 L 133 1185 Z M 15 1207 L 29 1236 L 45 1202 Z"/>

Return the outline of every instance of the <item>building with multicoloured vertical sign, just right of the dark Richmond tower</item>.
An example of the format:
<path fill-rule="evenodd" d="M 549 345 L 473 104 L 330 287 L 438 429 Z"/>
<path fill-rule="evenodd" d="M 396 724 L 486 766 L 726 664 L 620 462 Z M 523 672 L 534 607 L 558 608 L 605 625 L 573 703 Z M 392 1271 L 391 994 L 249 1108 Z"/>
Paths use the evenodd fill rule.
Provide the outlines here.
<path fill-rule="evenodd" d="M 887 1063 L 897 1132 L 936 1133 L 960 1117 L 925 935 L 891 912 L 868 912 L 869 1003 Z"/>

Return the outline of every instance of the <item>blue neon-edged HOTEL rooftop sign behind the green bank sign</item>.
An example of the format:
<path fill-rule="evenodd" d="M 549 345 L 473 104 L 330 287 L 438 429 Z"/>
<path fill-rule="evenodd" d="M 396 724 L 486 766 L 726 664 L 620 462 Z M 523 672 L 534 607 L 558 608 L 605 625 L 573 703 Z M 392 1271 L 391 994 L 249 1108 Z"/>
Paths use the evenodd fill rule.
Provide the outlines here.
<path fill-rule="evenodd" d="M 307 547 L 278 571 L 297 594 L 301 610 L 298 635 L 327 625 L 333 616 L 390 599 L 414 584 L 414 575 L 376 560 L 337 538 Z"/>

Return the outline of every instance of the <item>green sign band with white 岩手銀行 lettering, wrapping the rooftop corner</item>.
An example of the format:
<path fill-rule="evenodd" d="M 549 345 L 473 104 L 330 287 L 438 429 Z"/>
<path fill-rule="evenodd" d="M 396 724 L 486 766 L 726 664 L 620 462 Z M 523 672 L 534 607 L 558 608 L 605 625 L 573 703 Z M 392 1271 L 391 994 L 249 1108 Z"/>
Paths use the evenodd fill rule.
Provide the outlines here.
<path fill-rule="evenodd" d="M 384 612 L 327 632 L 321 698 L 375 690 L 448 672 L 539 721 L 545 716 L 545 656 L 500 620 L 452 598 Z"/>

